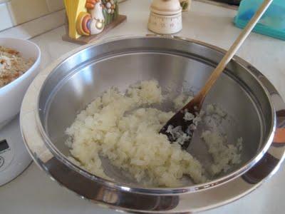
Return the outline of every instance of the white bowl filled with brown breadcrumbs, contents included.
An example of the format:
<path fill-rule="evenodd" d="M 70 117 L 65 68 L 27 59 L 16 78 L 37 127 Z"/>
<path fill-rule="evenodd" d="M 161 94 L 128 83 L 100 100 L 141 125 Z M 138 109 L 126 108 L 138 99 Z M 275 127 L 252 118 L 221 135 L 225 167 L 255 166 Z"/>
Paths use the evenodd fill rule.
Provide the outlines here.
<path fill-rule="evenodd" d="M 38 74 L 41 51 L 36 44 L 24 39 L 0 38 L 0 46 L 2 46 L 1 55 L 3 56 L 1 70 L 3 70 L 2 74 L 5 72 L 7 77 L 5 81 L 0 81 L 0 128 L 2 128 L 19 113 L 24 94 L 33 78 Z M 19 54 L 4 54 L 7 49 L 3 47 L 8 48 L 8 52 L 11 49 Z M 13 65 L 13 63 L 9 63 L 10 60 L 13 63 L 18 61 L 19 64 Z M 23 69 L 13 71 L 13 66 Z M 8 75 L 9 69 L 13 72 L 11 76 Z"/>

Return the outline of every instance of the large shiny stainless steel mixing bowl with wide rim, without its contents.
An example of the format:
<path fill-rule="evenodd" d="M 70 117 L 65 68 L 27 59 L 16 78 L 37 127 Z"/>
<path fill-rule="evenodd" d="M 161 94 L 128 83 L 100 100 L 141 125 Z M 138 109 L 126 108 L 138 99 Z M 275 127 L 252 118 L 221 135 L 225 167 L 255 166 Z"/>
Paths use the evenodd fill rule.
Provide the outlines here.
<path fill-rule="evenodd" d="M 34 136 L 23 125 L 30 119 L 23 116 L 24 113 L 21 116 L 27 147 L 41 168 L 58 183 L 85 198 L 113 208 L 141 212 L 186 212 L 234 200 L 237 195 L 256 188 L 261 180 L 271 175 L 284 156 L 281 144 L 278 156 L 266 153 L 273 146 L 276 128 L 276 110 L 271 93 L 278 93 L 261 73 L 237 57 L 229 63 L 212 88 L 206 103 L 217 103 L 232 118 L 222 124 L 222 129 L 228 133 L 229 141 L 239 136 L 244 138 L 242 163 L 209 183 L 182 188 L 142 188 L 138 183 L 125 182 L 125 177 L 108 161 L 103 166 L 115 182 L 104 180 L 68 161 L 69 152 L 64 143 L 65 130 L 71 126 L 76 114 L 107 88 L 118 86 L 125 89 L 131 83 L 155 78 L 162 90 L 171 92 L 173 97 L 181 91 L 195 93 L 223 54 L 221 49 L 198 41 L 160 36 L 115 39 L 86 46 L 45 71 L 48 76 L 38 86 L 40 91 L 33 94 L 37 103 L 31 104 L 36 116 L 33 126 L 38 130 L 37 138 L 41 142 L 31 142 Z M 279 103 L 278 108 L 284 104 L 279 96 L 275 102 Z M 195 134 L 189 151 L 203 162 L 209 157 L 203 155 L 203 143 L 199 133 Z M 275 161 L 274 165 L 265 173 L 260 167 L 247 173 L 254 165 L 262 163 L 260 159 L 265 153 L 265 158 L 269 156 Z M 237 183 L 239 190 L 234 187 Z M 223 193 L 215 200 L 201 198 L 227 186 L 232 186 L 228 190 L 232 193 Z"/>

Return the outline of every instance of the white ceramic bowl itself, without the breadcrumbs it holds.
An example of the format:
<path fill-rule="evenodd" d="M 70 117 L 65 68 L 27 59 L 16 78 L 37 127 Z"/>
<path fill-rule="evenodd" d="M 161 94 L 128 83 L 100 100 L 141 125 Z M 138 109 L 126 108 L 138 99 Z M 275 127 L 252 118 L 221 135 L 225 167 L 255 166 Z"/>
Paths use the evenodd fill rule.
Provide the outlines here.
<path fill-rule="evenodd" d="M 22 76 L 0 88 L 0 129 L 11 121 L 21 108 L 24 95 L 39 71 L 41 51 L 36 44 L 24 39 L 0 38 L 0 46 L 15 49 L 24 58 L 34 58 L 35 63 Z"/>

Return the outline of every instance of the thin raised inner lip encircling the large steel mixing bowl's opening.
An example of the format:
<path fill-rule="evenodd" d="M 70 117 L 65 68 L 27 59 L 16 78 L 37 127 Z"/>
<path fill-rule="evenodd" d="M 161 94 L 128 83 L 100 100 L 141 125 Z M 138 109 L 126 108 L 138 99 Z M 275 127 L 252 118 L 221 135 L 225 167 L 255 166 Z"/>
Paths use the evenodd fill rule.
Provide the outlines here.
<path fill-rule="evenodd" d="M 157 36 L 148 36 L 148 37 L 157 37 Z M 124 36 L 123 39 L 132 39 L 132 38 L 142 38 L 142 36 L 136 36 L 136 37 L 128 37 L 128 36 Z M 165 38 L 165 37 L 164 37 Z M 223 49 L 220 49 L 216 46 L 212 46 L 209 44 L 205 44 L 202 41 L 196 41 L 196 40 L 192 40 L 192 39 L 185 39 L 185 38 L 181 38 L 178 36 L 166 36 L 166 38 L 169 39 L 178 39 L 178 40 L 185 40 L 185 41 L 190 41 L 192 43 L 195 44 L 199 44 L 199 45 L 203 45 L 203 46 L 207 46 L 211 49 L 215 49 L 221 53 L 225 53 L 226 51 Z M 79 51 L 76 51 L 75 54 L 80 54 L 81 51 L 85 51 L 86 49 L 91 49 L 93 46 L 96 46 L 98 44 L 106 44 L 110 41 L 113 40 L 118 40 L 118 38 L 115 39 L 110 39 L 108 41 L 102 41 L 102 42 L 98 42 L 96 44 L 92 44 L 91 46 L 88 46 L 87 48 L 83 48 Z M 61 61 L 61 63 L 64 63 L 64 61 L 68 60 L 68 58 L 71 56 L 68 56 L 66 59 L 64 59 L 63 61 Z M 237 61 L 237 56 L 235 56 L 233 58 L 233 61 Z M 58 66 L 61 64 L 59 63 Z M 57 66 L 56 66 L 57 67 Z M 53 70 L 56 70 L 56 67 Z M 53 73 L 53 71 L 51 71 L 50 74 L 48 74 L 48 76 L 51 76 Z M 262 86 L 262 88 L 264 88 L 263 84 L 261 83 L 261 81 L 259 81 L 259 78 L 257 78 L 256 76 L 252 75 L 258 82 L 259 84 Z M 47 81 L 48 77 L 46 78 Z M 43 82 L 43 85 L 46 83 L 46 81 Z M 42 88 L 41 88 L 42 91 Z M 41 91 L 39 93 L 39 95 L 41 94 Z M 215 180 L 211 180 L 207 183 L 202 183 L 202 184 L 197 184 L 197 185 L 192 185 L 190 187 L 181 187 L 181 188 L 138 188 L 137 186 L 131 186 L 131 185 L 126 185 L 123 183 L 115 183 L 113 181 L 110 180 L 105 180 L 103 178 L 100 178 L 96 175 L 93 175 L 91 173 L 89 173 L 88 171 L 84 170 L 83 168 L 78 167 L 77 165 L 71 163 L 71 161 L 68 160 L 68 158 L 66 158 L 66 156 L 64 156 L 60 151 L 58 151 L 58 149 L 56 148 L 56 146 L 53 145 L 53 143 L 51 142 L 50 138 L 48 138 L 48 136 L 46 135 L 46 132 L 41 124 L 40 121 L 40 117 L 38 112 L 36 113 L 36 121 L 37 121 L 37 125 L 38 125 L 38 129 L 41 131 L 41 135 L 43 136 L 44 142 L 46 143 L 46 146 L 51 150 L 51 153 L 53 153 L 53 155 L 56 156 L 56 158 L 58 158 L 58 160 L 63 161 L 64 164 L 68 165 L 69 167 L 73 168 L 73 170 L 76 170 L 78 173 L 81 173 L 82 175 L 86 176 L 87 178 L 93 179 L 96 182 L 102 183 L 103 185 L 109 186 L 110 188 L 118 188 L 120 190 L 126 190 L 126 191 L 130 191 L 130 192 L 134 192 L 134 193 L 147 193 L 147 194 L 162 194 L 162 195 L 167 195 L 167 194 L 181 194 L 181 193 L 189 193 L 189 192 L 195 192 L 198 190 L 205 190 L 208 188 L 214 188 L 217 185 L 222 185 L 222 183 L 227 182 L 229 180 L 232 180 L 233 178 L 237 177 L 237 175 L 242 175 L 243 173 L 247 172 L 247 170 L 249 170 L 250 168 L 252 168 L 253 165 L 255 165 L 264 155 L 264 153 L 266 153 L 266 151 L 268 150 L 271 142 L 273 141 L 274 138 L 274 131 L 276 129 L 276 115 L 274 112 L 274 105 L 271 102 L 271 98 L 270 95 L 268 93 L 268 91 L 266 90 L 266 88 L 264 88 L 264 92 L 266 93 L 267 98 L 270 101 L 270 105 L 271 105 L 271 114 L 272 116 L 274 116 L 274 118 L 272 119 L 272 123 L 270 124 L 270 130 L 271 130 L 271 135 L 266 139 L 266 143 L 264 144 L 264 147 L 261 148 L 261 151 L 259 152 L 259 154 L 257 156 L 255 156 L 254 158 L 252 158 L 252 160 L 248 161 L 247 163 L 245 163 L 245 165 L 242 168 L 239 168 L 238 170 L 235 170 L 234 172 L 230 173 L 229 175 L 226 175 L 222 178 L 217 178 Z M 38 102 L 37 102 L 37 107 L 39 108 L 39 96 L 38 96 Z"/>

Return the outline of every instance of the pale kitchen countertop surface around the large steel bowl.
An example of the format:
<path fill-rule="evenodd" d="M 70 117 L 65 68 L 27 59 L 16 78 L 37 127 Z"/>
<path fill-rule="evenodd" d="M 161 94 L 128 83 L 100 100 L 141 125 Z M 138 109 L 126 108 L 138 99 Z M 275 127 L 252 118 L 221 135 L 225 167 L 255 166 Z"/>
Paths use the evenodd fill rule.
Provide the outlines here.
<path fill-rule="evenodd" d="M 128 20 L 103 38 L 149 34 L 150 32 L 147 31 L 149 5 L 150 1 L 140 0 L 129 0 L 120 4 L 120 13 L 126 14 Z M 190 11 L 183 13 L 183 30 L 177 35 L 228 49 L 241 31 L 232 24 L 236 13 L 237 11 L 232 9 L 194 1 Z M 78 47 L 76 44 L 62 41 L 63 34 L 65 29 L 61 26 L 31 39 L 41 48 L 41 69 L 59 56 Z M 264 73 L 285 98 L 285 41 L 251 34 L 237 55 Z M 206 211 L 204 214 L 284 213 L 284 180 L 285 169 L 282 165 L 271 179 L 253 193 L 228 205 Z M 115 211 L 100 208 L 98 205 L 78 198 L 78 195 L 61 188 L 32 163 L 18 178 L 0 188 L 0 213 L 87 214 L 115 213 Z"/>

